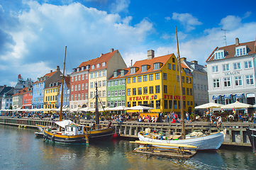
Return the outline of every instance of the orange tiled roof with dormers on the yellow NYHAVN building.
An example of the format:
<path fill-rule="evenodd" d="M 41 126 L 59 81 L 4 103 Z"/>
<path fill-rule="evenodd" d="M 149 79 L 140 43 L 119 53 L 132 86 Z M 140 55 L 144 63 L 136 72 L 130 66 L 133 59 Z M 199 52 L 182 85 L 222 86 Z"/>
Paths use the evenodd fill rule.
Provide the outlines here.
<path fill-rule="evenodd" d="M 169 58 L 172 57 L 172 56 L 175 57 L 175 55 L 172 53 L 170 55 L 163 55 L 163 56 L 160 56 L 160 57 L 154 57 L 154 58 L 152 58 L 150 60 L 146 59 L 146 60 L 137 61 L 137 62 L 135 62 L 133 64 L 133 67 L 138 67 L 138 71 L 135 72 L 135 74 L 130 74 L 130 69 L 129 69 L 129 71 L 126 74 L 126 76 L 127 75 L 133 76 L 133 75 L 137 75 L 137 74 L 148 74 L 150 72 L 159 71 L 159 70 L 162 69 L 162 67 L 167 63 Z M 153 64 L 156 63 L 156 62 L 161 62 L 162 63 L 162 67 L 160 67 L 160 69 L 154 69 Z M 150 68 L 146 72 L 141 72 L 141 66 L 143 66 L 143 65 L 150 65 Z"/>

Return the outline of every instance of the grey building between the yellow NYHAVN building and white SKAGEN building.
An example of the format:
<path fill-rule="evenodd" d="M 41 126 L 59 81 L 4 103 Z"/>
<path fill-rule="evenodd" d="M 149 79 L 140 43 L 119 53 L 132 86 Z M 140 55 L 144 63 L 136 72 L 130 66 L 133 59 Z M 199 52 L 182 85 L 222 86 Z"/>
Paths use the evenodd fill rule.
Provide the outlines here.
<path fill-rule="evenodd" d="M 186 66 L 184 71 L 193 74 L 194 106 L 208 103 L 207 67 L 198 64 L 196 60 L 188 62 L 185 57 L 182 57 L 181 60 L 182 64 Z"/>

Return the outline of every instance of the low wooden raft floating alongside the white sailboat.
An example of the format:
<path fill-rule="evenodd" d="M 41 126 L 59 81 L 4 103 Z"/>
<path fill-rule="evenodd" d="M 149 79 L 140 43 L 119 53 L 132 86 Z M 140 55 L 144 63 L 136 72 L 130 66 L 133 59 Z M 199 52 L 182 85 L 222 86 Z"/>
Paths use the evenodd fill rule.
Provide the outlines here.
<path fill-rule="evenodd" d="M 135 141 L 130 143 L 138 143 L 140 146 L 133 150 L 136 153 L 143 154 L 152 154 L 160 157 L 178 157 L 178 158 L 191 158 L 196 154 L 196 151 L 186 150 L 186 148 L 196 147 L 191 145 L 179 145 L 179 144 L 164 144 L 164 143 L 155 143 L 155 142 L 143 142 L 143 141 Z M 159 147 L 155 147 L 154 145 L 160 145 Z M 171 148 L 172 147 L 172 148 Z M 174 147 L 177 147 L 174 148 Z"/>

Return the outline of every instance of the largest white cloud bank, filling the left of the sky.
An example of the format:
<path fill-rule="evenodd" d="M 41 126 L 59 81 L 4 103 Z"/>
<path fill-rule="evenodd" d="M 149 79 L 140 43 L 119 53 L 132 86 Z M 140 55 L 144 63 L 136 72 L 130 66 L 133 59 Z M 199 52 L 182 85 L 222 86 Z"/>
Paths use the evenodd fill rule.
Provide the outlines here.
<path fill-rule="evenodd" d="M 15 29 L 6 30 L 15 42 L 9 44 L 13 50 L 0 55 L 1 65 L 9 60 L 11 66 L 1 70 L 6 72 L 11 67 L 13 74 L 23 72 L 23 77 L 32 79 L 63 63 L 65 45 L 72 55 L 71 64 L 67 64 L 71 70 L 81 62 L 109 52 L 112 47 L 125 52 L 139 45 L 153 30 L 147 18 L 131 26 L 131 16 L 122 18 L 118 13 L 109 14 L 79 3 L 55 6 L 23 2 L 29 8 L 14 13 L 18 24 Z"/>

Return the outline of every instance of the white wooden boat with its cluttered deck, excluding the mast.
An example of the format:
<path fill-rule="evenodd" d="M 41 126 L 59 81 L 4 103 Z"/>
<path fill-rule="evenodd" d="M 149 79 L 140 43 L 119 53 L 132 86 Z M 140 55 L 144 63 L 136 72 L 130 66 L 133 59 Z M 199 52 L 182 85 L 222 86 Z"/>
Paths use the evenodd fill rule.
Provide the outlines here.
<path fill-rule="evenodd" d="M 146 129 L 147 130 L 147 129 Z M 181 135 L 165 135 L 161 133 L 138 132 L 138 138 L 143 142 L 157 142 L 159 144 L 175 144 L 175 145 L 191 145 L 197 147 L 197 150 L 216 150 L 221 147 L 226 136 L 226 129 L 221 132 L 213 132 L 208 135 L 191 136 L 186 135 L 185 139 L 182 139 Z M 159 145 L 154 145 L 159 147 Z M 194 148 L 185 148 L 188 150 Z"/>

